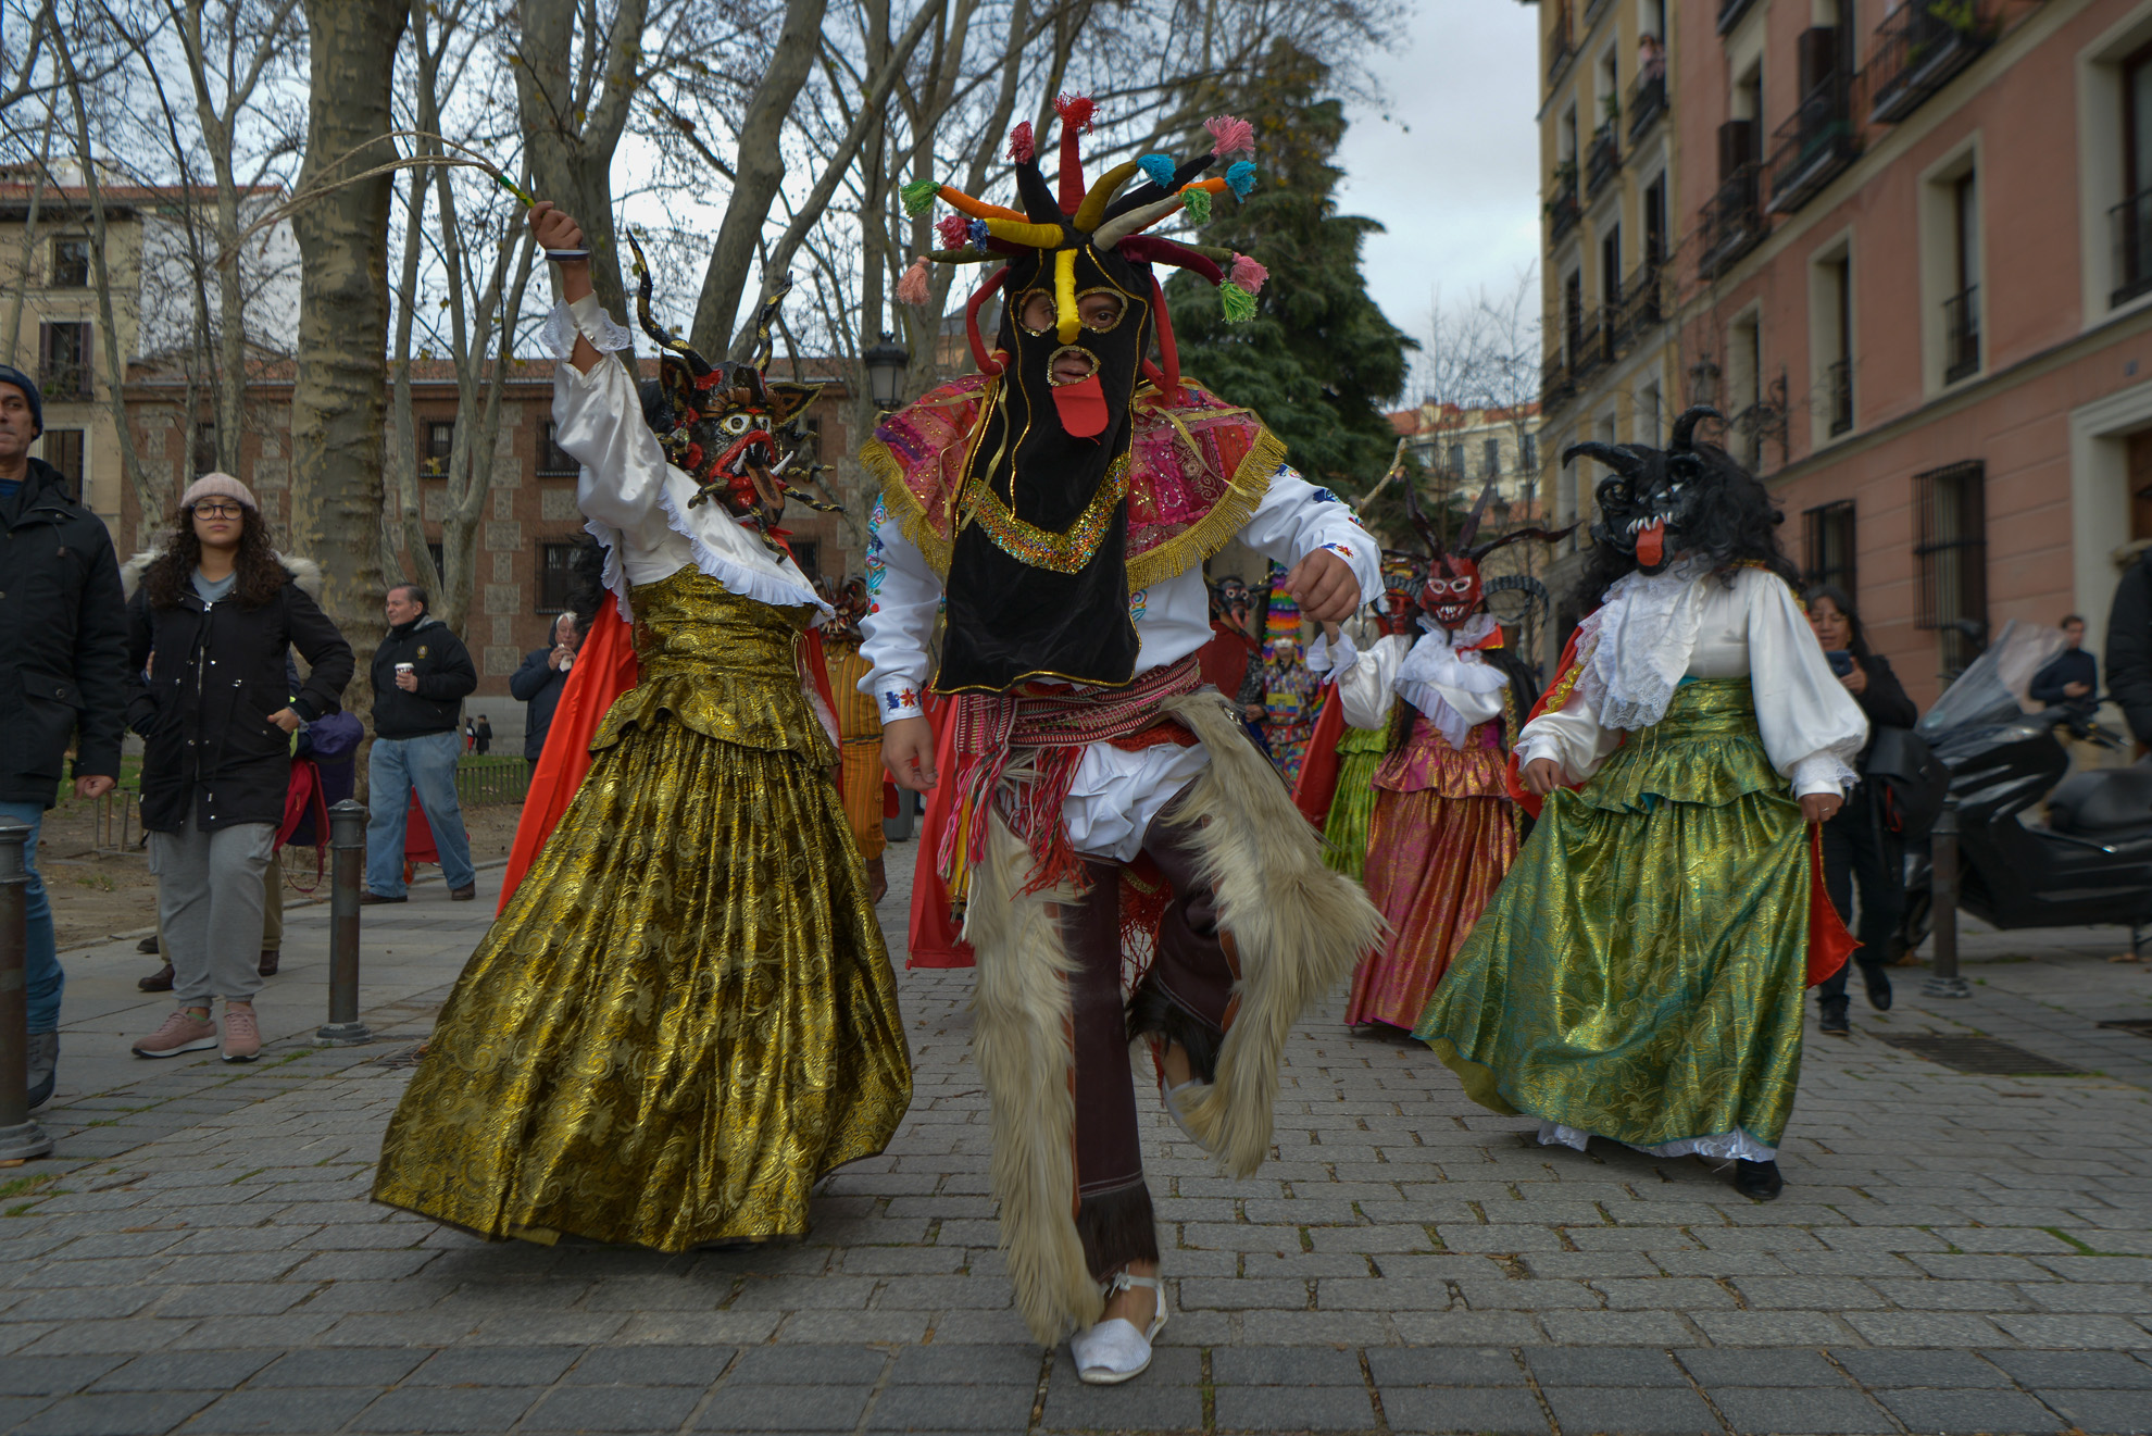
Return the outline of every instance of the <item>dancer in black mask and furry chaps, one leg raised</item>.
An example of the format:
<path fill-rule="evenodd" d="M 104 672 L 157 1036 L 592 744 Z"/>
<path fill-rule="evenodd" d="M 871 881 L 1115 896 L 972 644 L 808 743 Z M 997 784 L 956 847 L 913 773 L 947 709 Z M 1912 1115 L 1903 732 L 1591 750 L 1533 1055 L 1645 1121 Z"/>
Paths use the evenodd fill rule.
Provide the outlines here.
<path fill-rule="evenodd" d="M 1042 1343 L 1076 1333 L 1082 1380 L 1119 1382 L 1149 1365 L 1166 1315 L 1130 1040 L 1158 1055 L 1175 1122 L 1250 1173 L 1287 1029 L 1379 928 L 1201 682 L 1203 558 L 1240 536 L 1289 566 L 1285 588 L 1319 622 L 1373 599 L 1382 575 L 1354 512 L 1285 467 L 1261 420 L 1179 377 L 1151 263 L 1222 282 L 1227 316 L 1252 312 L 1263 276 L 1143 230 L 1244 192 L 1255 166 L 1233 155 L 1250 127 L 1209 121 L 1209 155 L 1147 155 L 1087 187 L 1091 101 L 1057 110 L 1059 194 L 1029 125 L 1011 136 L 1020 209 L 906 187 L 915 213 L 936 196 L 958 211 L 932 258 L 999 267 L 968 310 L 981 372 L 893 416 L 863 452 L 882 480 L 863 652 L 895 779 L 953 786 L 925 842 L 977 952 L 973 1051 L 1018 1307 Z M 1224 174 L 1203 179 L 1218 161 Z M 900 297 L 923 297 L 923 273 Z M 977 312 L 994 291 L 988 351 Z M 919 717 L 930 678 L 955 700 L 953 771 L 934 771 Z"/>

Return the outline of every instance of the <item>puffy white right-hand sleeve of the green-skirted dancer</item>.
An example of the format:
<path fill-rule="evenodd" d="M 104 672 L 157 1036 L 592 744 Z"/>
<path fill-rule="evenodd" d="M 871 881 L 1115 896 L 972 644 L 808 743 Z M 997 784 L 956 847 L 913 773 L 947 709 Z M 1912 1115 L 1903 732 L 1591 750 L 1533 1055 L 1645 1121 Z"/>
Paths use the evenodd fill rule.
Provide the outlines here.
<path fill-rule="evenodd" d="M 1760 568 L 1737 581 L 1747 590 L 1750 689 L 1762 751 L 1793 779 L 1795 797 L 1853 788 L 1868 715 L 1838 682 L 1793 590 Z"/>

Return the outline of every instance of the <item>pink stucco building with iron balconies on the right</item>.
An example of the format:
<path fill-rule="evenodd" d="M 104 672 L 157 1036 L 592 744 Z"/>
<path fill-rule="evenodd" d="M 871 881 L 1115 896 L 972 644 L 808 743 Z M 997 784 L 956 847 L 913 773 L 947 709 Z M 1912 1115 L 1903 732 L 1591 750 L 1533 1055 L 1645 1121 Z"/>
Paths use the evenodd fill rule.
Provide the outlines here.
<path fill-rule="evenodd" d="M 1625 4 L 1666 26 L 1666 323 L 1618 353 L 1605 276 L 1648 256 L 1549 243 L 1549 379 L 1601 344 L 1549 463 L 1717 405 L 1922 704 L 2010 618 L 2083 611 L 2098 646 L 2152 540 L 2152 2 L 1588 9 Z M 1577 467 L 1554 482 L 1588 506 Z"/>

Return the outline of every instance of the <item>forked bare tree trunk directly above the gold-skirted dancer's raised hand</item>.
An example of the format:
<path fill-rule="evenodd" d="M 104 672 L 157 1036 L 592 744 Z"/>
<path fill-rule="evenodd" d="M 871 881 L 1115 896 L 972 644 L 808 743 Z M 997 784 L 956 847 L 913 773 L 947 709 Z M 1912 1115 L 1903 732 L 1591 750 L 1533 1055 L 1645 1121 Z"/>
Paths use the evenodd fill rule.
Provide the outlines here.
<path fill-rule="evenodd" d="M 532 192 L 581 222 L 598 304 L 611 314 L 624 314 L 620 241 L 613 237 L 613 151 L 620 149 L 635 99 L 648 0 L 620 0 L 605 39 L 585 37 L 585 45 L 605 47 L 598 90 L 587 97 L 577 93 L 570 69 L 581 0 L 521 0 L 516 9 L 523 22 L 523 41 L 514 54 L 516 110 L 523 118 Z M 807 54 L 813 54 L 811 41 Z"/>

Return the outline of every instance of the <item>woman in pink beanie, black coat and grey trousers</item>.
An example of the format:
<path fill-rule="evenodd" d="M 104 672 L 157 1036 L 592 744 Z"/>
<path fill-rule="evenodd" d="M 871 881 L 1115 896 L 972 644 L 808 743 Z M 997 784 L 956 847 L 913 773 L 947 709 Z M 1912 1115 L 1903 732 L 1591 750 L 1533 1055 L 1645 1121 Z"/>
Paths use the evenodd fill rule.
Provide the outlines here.
<path fill-rule="evenodd" d="M 217 1046 L 254 1061 L 263 986 L 263 874 L 291 786 L 291 736 L 338 710 L 351 644 L 278 558 L 254 495 L 204 474 L 127 605 L 127 726 L 142 734 L 142 827 L 179 1008 L 138 1057 Z M 286 650 L 310 672 L 291 695 Z"/>

